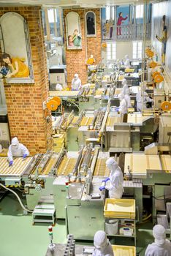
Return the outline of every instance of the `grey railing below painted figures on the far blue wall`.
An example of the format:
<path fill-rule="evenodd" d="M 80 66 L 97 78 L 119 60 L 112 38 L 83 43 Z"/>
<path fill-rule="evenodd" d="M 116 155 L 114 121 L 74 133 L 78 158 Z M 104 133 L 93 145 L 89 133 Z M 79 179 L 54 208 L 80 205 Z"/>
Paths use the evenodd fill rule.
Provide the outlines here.
<path fill-rule="evenodd" d="M 115 41 L 139 40 L 143 36 L 143 24 L 114 26 L 113 39 Z M 146 24 L 145 39 L 151 38 L 151 23 Z"/>

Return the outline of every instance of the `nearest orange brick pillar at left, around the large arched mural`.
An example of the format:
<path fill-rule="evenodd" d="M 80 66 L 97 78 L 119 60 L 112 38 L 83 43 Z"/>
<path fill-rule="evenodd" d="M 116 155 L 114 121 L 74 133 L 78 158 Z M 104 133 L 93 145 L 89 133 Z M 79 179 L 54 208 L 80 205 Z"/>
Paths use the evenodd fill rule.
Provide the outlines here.
<path fill-rule="evenodd" d="M 18 12 L 28 22 L 34 84 L 5 84 L 4 88 L 11 136 L 18 136 L 31 154 L 52 148 L 52 124 L 46 121 L 50 112 L 42 110 L 42 102 L 48 96 L 48 79 L 40 10 L 40 7 L 0 7 L 0 17 L 5 12 Z"/>

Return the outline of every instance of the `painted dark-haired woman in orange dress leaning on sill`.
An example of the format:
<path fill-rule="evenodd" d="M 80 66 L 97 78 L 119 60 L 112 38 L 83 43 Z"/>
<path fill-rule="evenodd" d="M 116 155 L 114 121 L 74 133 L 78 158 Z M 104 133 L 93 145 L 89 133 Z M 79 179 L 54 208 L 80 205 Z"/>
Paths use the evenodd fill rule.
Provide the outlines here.
<path fill-rule="evenodd" d="M 28 78 L 29 70 L 28 66 L 24 63 L 25 59 L 12 58 L 8 53 L 4 53 L 1 56 L 4 66 L 9 69 L 6 78 Z"/>

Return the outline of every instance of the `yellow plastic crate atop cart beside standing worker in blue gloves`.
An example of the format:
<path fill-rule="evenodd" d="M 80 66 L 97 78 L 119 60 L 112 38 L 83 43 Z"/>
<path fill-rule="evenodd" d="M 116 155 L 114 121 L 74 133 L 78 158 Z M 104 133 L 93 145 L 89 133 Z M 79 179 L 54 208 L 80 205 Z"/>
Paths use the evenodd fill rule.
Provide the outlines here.
<path fill-rule="evenodd" d="M 107 198 L 104 217 L 135 219 L 135 200 Z"/>

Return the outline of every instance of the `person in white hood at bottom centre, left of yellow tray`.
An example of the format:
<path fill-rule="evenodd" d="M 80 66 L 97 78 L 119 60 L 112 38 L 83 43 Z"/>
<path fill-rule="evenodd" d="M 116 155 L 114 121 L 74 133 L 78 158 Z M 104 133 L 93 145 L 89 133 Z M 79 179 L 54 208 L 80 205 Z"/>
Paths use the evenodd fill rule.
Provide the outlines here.
<path fill-rule="evenodd" d="M 94 235 L 94 252 L 92 256 L 114 256 L 113 247 L 107 239 L 106 233 L 99 230 Z"/>

